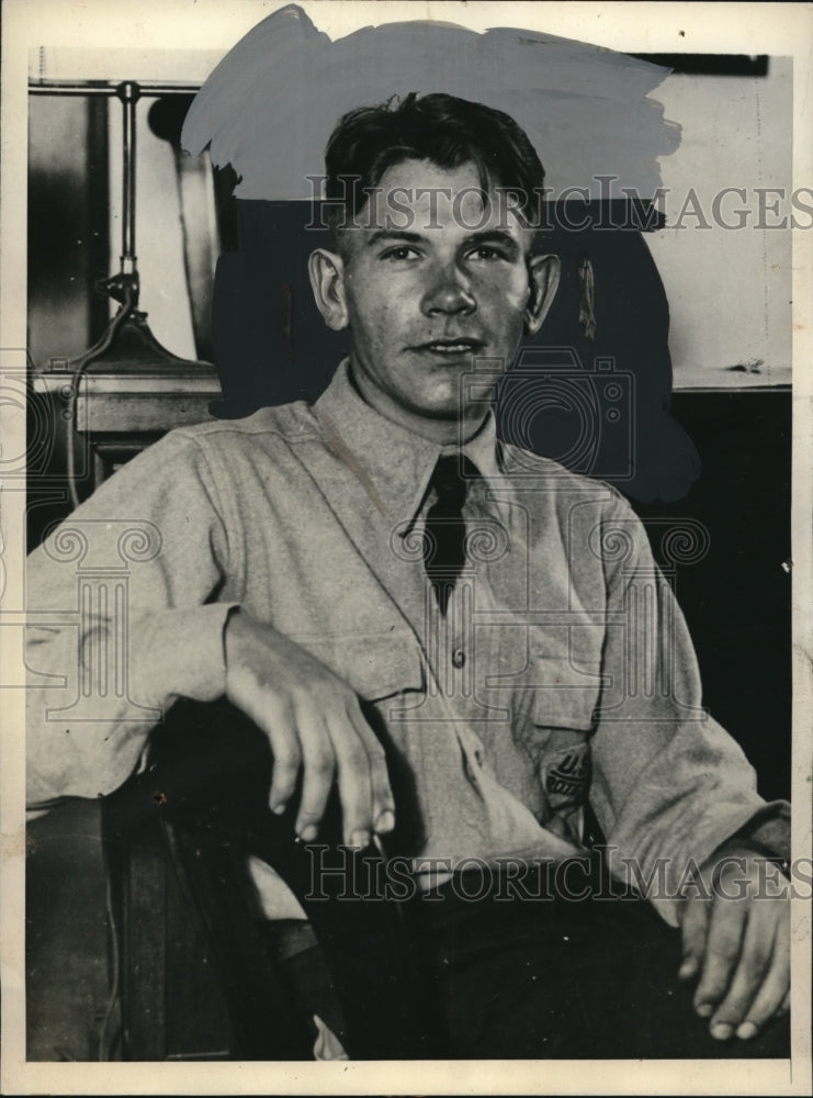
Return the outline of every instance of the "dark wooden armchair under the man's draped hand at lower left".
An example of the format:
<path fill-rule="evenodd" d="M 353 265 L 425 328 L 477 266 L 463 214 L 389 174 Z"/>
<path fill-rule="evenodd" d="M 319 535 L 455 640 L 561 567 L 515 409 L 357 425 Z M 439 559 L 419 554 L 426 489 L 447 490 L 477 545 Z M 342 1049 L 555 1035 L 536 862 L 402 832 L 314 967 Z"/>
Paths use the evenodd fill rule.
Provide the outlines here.
<path fill-rule="evenodd" d="M 155 729 L 146 768 L 106 798 L 125 1058 L 309 1058 L 314 1015 L 351 1058 L 437 1055 L 429 983 L 404 911 L 377 898 L 382 855 L 330 842 L 340 834 L 335 802 L 323 845 L 296 842 L 296 798 L 274 816 L 270 776 L 267 737 L 248 718 L 225 701 L 180 702 Z M 307 923 L 264 917 L 250 855 L 276 871 Z M 185 929 L 168 918 L 179 904 Z M 200 946 L 197 959 L 179 954 L 172 926 L 188 942 L 195 931 L 203 956 Z M 185 983 L 179 964 L 190 968 Z M 168 1031 L 197 1011 L 192 984 L 200 994 L 194 976 L 206 965 L 216 973 L 222 1034 L 212 1034 L 214 1049 L 179 1053 Z M 211 1017 L 205 1024 L 211 1031 Z"/>

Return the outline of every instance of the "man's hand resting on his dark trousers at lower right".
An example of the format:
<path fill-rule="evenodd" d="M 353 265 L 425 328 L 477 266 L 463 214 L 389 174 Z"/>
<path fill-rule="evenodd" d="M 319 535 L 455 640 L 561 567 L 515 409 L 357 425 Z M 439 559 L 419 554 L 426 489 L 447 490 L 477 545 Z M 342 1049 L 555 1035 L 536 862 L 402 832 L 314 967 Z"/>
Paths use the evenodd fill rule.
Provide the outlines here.
<path fill-rule="evenodd" d="M 713 1038 L 747 1041 L 789 1009 L 789 883 L 742 845 L 721 848 L 703 869 L 712 897 L 684 900 L 678 975 L 699 976 L 695 1009 Z"/>

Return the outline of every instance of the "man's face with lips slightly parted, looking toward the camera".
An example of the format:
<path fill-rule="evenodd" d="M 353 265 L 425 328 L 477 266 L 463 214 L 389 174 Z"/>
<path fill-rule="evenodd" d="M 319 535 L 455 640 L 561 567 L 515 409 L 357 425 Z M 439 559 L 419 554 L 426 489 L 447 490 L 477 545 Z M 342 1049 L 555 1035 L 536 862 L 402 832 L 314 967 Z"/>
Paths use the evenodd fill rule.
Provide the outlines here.
<path fill-rule="evenodd" d="M 342 256 L 330 257 L 339 305 L 332 317 L 320 303 L 331 327 L 350 327 L 362 395 L 430 437 L 456 428 L 460 380 L 475 360 L 506 369 L 523 330 L 539 327 L 532 232 L 497 201 L 486 220 L 478 189 L 473 164 L 448 171 L 406 160 L 389 168 L 379 200 L 343 232 Z M 482 405 L 463 411 L 484 414 Z"/>

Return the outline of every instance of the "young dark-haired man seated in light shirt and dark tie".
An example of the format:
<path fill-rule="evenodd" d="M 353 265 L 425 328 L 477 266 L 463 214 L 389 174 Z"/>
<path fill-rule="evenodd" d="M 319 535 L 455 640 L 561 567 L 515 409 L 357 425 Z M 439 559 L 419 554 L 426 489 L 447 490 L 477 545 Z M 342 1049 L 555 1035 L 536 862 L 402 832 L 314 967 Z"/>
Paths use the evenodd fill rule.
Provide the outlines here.
<path fill-rule="evenodd" d="M 67 675 L 30 691 L 30 806 L 110 794 L 174 699 L 225 696 L 303 843 L 336 788 L 346 843 L 405 860 L 450 1055 L 787 1054 L 788 900 L 764 895 L 787 806 L 703 712 L 630 507 L 496 436 L 558 279 L 534 148 L 501 112 L 410 96 L 345 116 L 327 177 L 310 281 L 350 341 L 328 390 L 172 432 L 32 553 L 31 609 L 70 610 L 68 527 L 102 567 L 145 537 L 121 681 L 94 682 L 112 605 L 78 640 L 29 630 L 32 670 Z M 659 919 L 579 876 L 588 798 Z"/>

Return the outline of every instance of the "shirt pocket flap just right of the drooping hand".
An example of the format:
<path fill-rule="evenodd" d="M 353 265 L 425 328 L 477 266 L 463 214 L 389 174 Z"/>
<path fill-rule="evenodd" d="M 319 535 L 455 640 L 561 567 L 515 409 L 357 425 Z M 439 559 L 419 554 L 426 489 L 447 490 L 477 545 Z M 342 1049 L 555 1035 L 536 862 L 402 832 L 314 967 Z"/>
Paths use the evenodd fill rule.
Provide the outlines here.
<path fill-rule="evenodd" d="M 369 702 L 426 684 L 424 659 L 416 636 L 406 629 L 383 634 L 293 637 Z"/>

